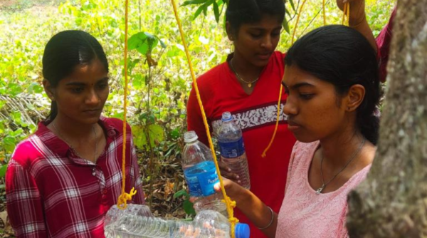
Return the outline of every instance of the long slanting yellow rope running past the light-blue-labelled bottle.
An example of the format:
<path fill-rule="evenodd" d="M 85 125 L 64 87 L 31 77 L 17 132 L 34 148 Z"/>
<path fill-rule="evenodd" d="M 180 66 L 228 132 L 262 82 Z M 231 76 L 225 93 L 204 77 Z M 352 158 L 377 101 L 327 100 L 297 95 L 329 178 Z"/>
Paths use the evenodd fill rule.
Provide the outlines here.
<path fill-rule="evenodd" d="M 221 172 L 219 170 L 218 161 L 216 159 L 214 144 L 212 143 L 211 133 L 209 131 L 208 120 L 206 119 L 206 114 L 205 114 L 205 111 L 204 111 L 203 103 L 201 102 L 200 93 L 199 93 L 199 87 L 197 86 L 196 76 L 194 75 L 193 66 L 191 64 L 191 58 L 190 58 L 190 54 L 189 54 L 189 49 L 188 49 L 188 47 L 186 45 L 184 31 L 182 30 L 181 21 L 179 20 L 178 10 L 176 9 L 175 1 L 174 0 L 171 0 L 171 1 L 172 1 L 172 6 L 174 7 L 175 19 L 176 19 L 176 22 L 177 22 L 178 27 L 179 27 L 179 33 L 181 35 L 181 41 L 182 41 L 182 44 L 184 45 L 184 50 L 185 50 L 185 53 L 186 53 L 187 63 L 189 64 L 189 68 L 190 68 L 190 72 L 191 72 L 191 78 L 193 79 L 194 90 L 196 90 L 197 101 L 199 102 L 199 107 L 200 107 L 200 110 L 201 110 L 201 116 L 203 118 L 203 123 L 204 123 L 205 129 L 206 129 L 206 135 L 208 136 L 209 148 L 211 148 L 211 153 L 212 153 L 212 157 L 214 157 L 216 171 L 218 172 L 219 183 L 221 185 L 221 192 L 222 192 L 223 197 L 224 197 L 223 202 L 226 203 L 227 212 L 228 212 L 228 220 L 231 223 L 231 237 L 235 238 L 236 234 L 235 234 L 235 231 L 234 231 L 234 227 L 236 226 L 236 223 L 238 222 L 238 219 L 236 219 L 236 217 L 234 217 L 233 208 L 236 207 L 236 202 L 232 201 L 230 199 L 230 197 L 227 196 L 226 190 L 224 188 L 223 179 L 221 177 Z"/>

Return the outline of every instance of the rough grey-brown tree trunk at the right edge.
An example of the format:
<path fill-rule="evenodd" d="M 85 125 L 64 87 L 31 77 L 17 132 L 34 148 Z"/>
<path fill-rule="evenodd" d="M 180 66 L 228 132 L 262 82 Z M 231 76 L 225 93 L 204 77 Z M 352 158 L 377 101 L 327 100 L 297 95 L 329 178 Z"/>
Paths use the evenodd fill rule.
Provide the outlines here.
<path fill-rule="evenodd" d="M 427 0 L 399 0 L 376 158 L 349 194 L 350 237 L 427 237 Z"/>

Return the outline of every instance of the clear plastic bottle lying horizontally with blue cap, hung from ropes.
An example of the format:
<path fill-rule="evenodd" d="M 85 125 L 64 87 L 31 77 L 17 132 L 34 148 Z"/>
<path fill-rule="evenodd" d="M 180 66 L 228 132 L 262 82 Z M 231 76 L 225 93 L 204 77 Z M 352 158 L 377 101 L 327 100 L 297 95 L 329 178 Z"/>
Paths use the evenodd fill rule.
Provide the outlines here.
<path fill-rule="evenodd" d="M 127 205 L 126 209 L 112 206 L 104 223 L 106 238 L 169 238 L 169 237 L 230 237 L 231 225 L 223 214 L 204 210 L 192 222 L 154 217 L 145 205 Z M 248 224 L 238 223 L 237 238 L 249 238 Z"/>

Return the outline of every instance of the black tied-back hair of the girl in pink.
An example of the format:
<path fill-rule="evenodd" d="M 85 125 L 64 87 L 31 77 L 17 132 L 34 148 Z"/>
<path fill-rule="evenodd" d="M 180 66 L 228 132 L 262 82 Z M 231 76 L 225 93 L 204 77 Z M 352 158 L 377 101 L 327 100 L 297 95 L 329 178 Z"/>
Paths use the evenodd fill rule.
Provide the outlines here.
<path fill-rule="evenodd" d="M 379 118 L 374 115 L 381 90 L 376 52 L 364 36 L 347 26 L 323 26 L 290 47 L 286 66 L 296 65 L 303 71 L 332 83 L 337 95 L 344 95 L 355 84 L 364 86 L 364 100 L 357 108 L 357 129 L 376 145 Z"/>

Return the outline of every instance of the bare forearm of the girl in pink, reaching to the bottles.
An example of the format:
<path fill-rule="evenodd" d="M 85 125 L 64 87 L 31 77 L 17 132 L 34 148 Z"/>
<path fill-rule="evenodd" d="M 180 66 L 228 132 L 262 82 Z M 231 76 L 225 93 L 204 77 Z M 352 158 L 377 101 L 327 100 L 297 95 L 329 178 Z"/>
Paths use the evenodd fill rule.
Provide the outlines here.
<path fill-rule="evenodd" d="M 224 180 L 224 187 L 227 195 L 231 200 L 236 201 L 236 206 L 248 219 L 255 224 L 256 227 L 266 227 L 261 231 L 267 237 L 275 237 L 276 229 L 278 227 L 278 214 L 272 212 L 267 205 L 265 205 L 258 197 L 251 191 L 246 190 L 240 185 L 232 182 L 231 180 Z M 219 184 L 215 187 L 216 191 L 220 191 Z M 273 222 L 271 222 L 273 219 Z M 270 223 L 271 222 L 271 223 Z"/>

